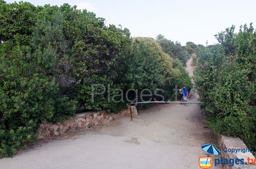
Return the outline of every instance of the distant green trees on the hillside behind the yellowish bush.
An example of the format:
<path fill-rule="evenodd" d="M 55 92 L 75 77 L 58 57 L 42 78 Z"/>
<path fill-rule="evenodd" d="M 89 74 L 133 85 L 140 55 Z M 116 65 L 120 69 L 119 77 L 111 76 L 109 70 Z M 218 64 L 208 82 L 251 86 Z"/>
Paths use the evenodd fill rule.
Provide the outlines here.
<path fill-rule="evenodd" d="M 180 60 L 183 66 L 186 66 L 186 62 L 189 59 L 189 53 L 185 46 L 181 46 L 178 42 L 167 40 L 166 38 L 158 39 L 157 42 L 162 47 L 163 51 L 169 54 L 171 57 Z"/>

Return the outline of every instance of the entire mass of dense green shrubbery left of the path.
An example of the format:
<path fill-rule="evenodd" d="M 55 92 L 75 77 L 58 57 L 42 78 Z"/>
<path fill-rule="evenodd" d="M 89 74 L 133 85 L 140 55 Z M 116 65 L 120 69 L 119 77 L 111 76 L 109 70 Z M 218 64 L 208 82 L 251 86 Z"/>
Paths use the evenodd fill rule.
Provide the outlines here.
<path fill-rule="evenodd" d="M 127 28 L 105 26 L 104 18 L 76 6 L 0 0 L 0 25 L 1 157 L 36 140 L 43 121 L 123 109 L 127 101 L 108 102 L 108 93 L 91 102 L 92 84 L 110 85 L 110 97 L 119 95 L 115 100 L 125 98 L 130 88 L 164 89 L 168 99 L 176 84 L 192 86 L 180 61 L 155 40 L 132 40 Z M 102 87 L 94 86 L 94 91 L 102 92 Z"/>

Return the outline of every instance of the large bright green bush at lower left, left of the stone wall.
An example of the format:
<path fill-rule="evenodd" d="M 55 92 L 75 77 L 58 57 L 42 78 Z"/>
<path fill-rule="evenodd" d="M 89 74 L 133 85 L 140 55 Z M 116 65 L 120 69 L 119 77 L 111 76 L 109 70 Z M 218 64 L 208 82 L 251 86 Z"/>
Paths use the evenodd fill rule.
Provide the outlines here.
<path fill-rule="evenodd" d="M 39 122 L 58 119 L 60 114 L 70 117 L 76 102 L 58 96 L 58 84 L 44 74 L 47 68 L 29 46 L 15 46 L 11 54 L 1 50 L 0 56 L 1 153 L 12 155 L 32 139 Z"/>

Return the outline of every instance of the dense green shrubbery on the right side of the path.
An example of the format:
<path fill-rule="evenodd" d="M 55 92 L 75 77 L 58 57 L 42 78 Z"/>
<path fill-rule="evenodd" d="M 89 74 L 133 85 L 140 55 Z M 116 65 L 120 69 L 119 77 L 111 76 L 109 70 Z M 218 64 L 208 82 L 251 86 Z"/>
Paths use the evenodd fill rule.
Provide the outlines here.
<path fill-rule="evenodd" d="M 200 48 L 195 85 L 209 126 L 256 148 L 256 33 L 252 25 L 233 31 L 216 34 L 220 44 Z"/>

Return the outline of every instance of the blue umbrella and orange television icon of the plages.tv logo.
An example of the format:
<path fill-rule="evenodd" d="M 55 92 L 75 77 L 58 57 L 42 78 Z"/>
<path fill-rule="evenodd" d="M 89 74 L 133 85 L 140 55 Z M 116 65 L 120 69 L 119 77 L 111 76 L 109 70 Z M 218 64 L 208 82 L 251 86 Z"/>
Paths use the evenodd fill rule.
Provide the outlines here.
<path fill-rule="evenodd" d="M 212 155 L 218 155 L 220 154 L 220 150 L 218 150 L 215 146 L 212 144 L 203 144 L 201 145 L 202 149 L 206 152 L 208 152 L 207 157 L 200 157 L 198 160 L 199 166 L 202 169 L 209 169 L 212 167 L 212 158 L 209 156 Z"/>

